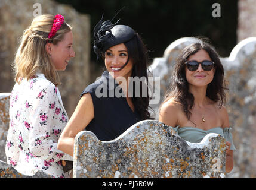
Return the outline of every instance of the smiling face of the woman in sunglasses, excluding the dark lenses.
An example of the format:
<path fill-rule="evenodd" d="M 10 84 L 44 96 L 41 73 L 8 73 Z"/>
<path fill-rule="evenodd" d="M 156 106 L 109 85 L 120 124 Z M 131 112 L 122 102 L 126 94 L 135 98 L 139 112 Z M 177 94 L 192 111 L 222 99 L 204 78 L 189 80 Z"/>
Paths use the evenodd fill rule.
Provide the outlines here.
<path fill-rule="evenodd" d="M 206 50 L 203 50 L 203 49 L 199 50 L 193 55 L 190 55 L 189 58 L 187 59 L 187 61 L 192 61 L 192 60 L 195 60 L 198 62 L 202 62 L 203 60 L 212 61 L 209 54 L 206 52 Z M 186 66 L 185 72 L 186 72 L 186 78 L 190 87 L 191 86 L 207 87 L 207 85 L 211 83 L 211 81 L 214 78 L 215 68 L 211 69 L 211 71 L 204 71 L 202 69 L 201 64 L 199 64 L 198 69 L 196 69 L 196 71 L 189 71 L 189 69 L 187 69 L 187 66 Z"/>

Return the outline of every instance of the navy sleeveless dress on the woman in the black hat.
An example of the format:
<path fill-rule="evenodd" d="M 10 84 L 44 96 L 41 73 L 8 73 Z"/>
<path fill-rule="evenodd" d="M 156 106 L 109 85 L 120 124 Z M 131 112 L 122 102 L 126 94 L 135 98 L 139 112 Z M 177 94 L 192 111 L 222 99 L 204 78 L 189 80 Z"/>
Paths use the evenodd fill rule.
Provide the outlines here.
<path fill-rule="evenodd" d="M 94 105 L 94 119 L 85 130 L 93 132 L 101 141 L 113 140 L 141 121 L 138 113 L 129 107 L 126 98 L 116 96 L 115 90 L 118 90 L 119 94 L 124 93 L 118 84 L 112 83 L 113 81 L 113 77 L 104 71 L 101 78 L 88 85 L 81 94 L 82 97 L 83 94 L 90 93 Z"/>

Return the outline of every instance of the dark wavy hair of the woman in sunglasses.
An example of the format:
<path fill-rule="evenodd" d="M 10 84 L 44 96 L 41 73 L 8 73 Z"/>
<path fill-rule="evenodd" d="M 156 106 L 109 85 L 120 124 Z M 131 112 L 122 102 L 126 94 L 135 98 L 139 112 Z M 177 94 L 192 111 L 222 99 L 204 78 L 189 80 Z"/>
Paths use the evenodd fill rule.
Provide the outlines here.
<path fill-rule="evenodd" d="M 206 96 L 212 101 L 216 102 L 219 109 L 226 103 L 226 93 L 228 90 L 224 79 L 224 69 L 221 64 L 220 58 L 213 46 L 208 42 L 198 39 L 198 42 L 192 43 L 185 47 L 177 58 L 177 64 L 175 65 L 172 75 L 172 83 L 164 97 L 163 103 L 174 97 L 174 99 L 181 103 L 184 113 L 188 119 L 190 119 L 191 112 L 194 105 L 194 96 L 189 92 L 189 83 L 186 79 L 185 62 L 190 55 L 195 54 L 199 50 L 205 50 L 212 61 L 215 63 L 215 74 L 211 83 L 208 84 L 206 90 Z"/>

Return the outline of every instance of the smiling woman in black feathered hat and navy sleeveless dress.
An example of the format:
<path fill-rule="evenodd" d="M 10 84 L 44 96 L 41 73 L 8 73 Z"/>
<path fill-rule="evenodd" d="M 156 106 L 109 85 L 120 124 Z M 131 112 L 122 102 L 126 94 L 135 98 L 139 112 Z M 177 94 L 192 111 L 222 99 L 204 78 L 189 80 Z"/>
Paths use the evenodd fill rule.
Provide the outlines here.
<path fill-rule="evenodd" d="M 149 95 L 143 88 L 148 78 L 147 49 L 141 37 L 131 27 L 103 22 L 102 17 L 94 27 L 94 52 L 104 59 L 107 71 L 82 92 L 60 136 L 58 149 L 71 156 L 80 131 L 94 132 L 99 140 L 109 141 L 138 121 L 150 119 Z M 143 79 L 143 83 L 129 83 L 131 78 Z"/>

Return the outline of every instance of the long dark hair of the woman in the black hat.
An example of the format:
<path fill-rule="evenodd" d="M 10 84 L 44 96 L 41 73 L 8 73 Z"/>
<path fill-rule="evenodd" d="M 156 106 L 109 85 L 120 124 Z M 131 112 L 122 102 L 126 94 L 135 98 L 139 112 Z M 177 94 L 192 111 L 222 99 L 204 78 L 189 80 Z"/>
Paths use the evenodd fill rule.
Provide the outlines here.
<path fill-rule="evenodd" d="M 128 60 L 132 60 L 133 62 L 133 68 L 132 68 L 132 74 L 131 77 L 145 77 L 146 81 L 145 83 L 148 84 L 148 73 L 150 71 L 147 69 L 149 66 L 149 56 L 148 56 L 148 50 L 146 45 L 144 45 L 143 40 L 141 39 L 140 35 L 138 33 L 135 33 L 134 37 L 132 37 L 131 40 L 128 42 L 124 42 L 125 47 L 127 47 L 128 51 Z M 104 60 L 104 53 L 102 54 L 102 58 Z M 106 68 L 104 68 L 106 70 Z M 137 84 L 137 83 L 136 83 Z M 147 88 L 147 97 L 143 97 L 143 87 L 142 82 L 140 84 L 140 96 L 137 97 L 135 96 L 135 85 L 131 85 L 133 87 L 133 96 L 132 96 L 132 103 L 135 107 L 135 110 L 138 112 L 140 115 L 140 118 L 142 120 L 145 119 L 152 119 L 150 118 L 150 112 L 149 109 L 151 108 L 149 106 L 149 91 Z M 152 109 L 153 110 L 153 109 Z"/>

